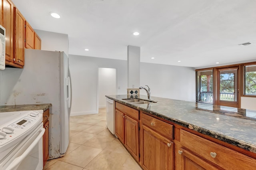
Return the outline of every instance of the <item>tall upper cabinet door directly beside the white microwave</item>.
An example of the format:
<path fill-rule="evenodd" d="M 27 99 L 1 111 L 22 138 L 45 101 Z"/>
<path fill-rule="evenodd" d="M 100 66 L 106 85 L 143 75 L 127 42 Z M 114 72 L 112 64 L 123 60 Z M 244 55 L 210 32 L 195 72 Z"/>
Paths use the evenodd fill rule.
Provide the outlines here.
<path fill-rule="evenodd" d="M 3 27 L 5 28 L 5 59 L 6 61 L 13 62 L 13 14 L 14 7 L 12 1 L 3 0 Z M 8 62 L 7 62 L 8 63 Z"/>

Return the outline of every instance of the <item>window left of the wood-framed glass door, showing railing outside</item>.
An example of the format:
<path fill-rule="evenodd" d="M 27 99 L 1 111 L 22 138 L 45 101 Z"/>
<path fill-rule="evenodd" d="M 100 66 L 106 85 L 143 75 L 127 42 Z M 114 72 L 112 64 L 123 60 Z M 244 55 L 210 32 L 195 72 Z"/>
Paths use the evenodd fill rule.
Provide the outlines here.
<path fill-rule="evenodd" d="M 212 103 L 212 70 L 196 71 L 196 101 Z"/>

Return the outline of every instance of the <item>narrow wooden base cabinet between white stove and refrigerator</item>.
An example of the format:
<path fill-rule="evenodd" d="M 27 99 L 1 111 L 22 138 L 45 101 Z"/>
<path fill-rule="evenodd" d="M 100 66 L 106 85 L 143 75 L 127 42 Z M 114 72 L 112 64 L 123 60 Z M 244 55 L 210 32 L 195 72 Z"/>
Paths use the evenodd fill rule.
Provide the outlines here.
<path fill-rule="evenodd" d="M 45 166 L 46 161 L 49 157 L 49 109 L 43 113 L 43 124 L 45 132 L 43 135 L 43 166 Z"/>

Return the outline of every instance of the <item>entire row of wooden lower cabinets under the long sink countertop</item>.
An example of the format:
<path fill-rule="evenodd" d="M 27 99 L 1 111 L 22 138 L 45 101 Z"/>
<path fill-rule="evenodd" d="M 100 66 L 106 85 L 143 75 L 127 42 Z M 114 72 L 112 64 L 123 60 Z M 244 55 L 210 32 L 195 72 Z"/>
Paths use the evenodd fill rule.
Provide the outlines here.
<path fill-rule="evenodd" d="M 253 154 L 120 103 L 116 136 L 144 170 L 256 169 Z"/>

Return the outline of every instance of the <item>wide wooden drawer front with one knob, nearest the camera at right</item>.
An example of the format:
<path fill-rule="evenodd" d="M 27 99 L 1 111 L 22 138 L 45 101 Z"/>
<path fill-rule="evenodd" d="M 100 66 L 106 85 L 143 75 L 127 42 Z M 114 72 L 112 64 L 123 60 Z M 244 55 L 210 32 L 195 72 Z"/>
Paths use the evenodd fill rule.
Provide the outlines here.
<path fill-rule="evenodd" d="M 256 160 L 210 140 L 180 130 L 180 143 L 204 159 L 228 170 L 256 169 Z M 216 157 L 214 154 L 216 154 Z"/>

